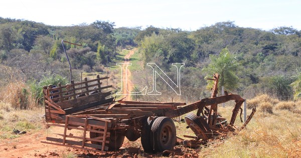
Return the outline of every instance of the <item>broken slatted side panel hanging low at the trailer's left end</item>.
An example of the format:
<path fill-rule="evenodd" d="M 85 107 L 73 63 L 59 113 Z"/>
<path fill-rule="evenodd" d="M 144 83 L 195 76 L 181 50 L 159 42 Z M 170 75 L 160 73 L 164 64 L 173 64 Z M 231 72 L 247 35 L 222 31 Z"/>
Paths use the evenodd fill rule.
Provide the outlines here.
<path fill-rule="evenodd" d="M 51 124 L 53 126 L 64 128 L 63 134 L 57 133 L 61 138 L 46 137 L 47 141 L 41 142 L 96 152 L 105 152 L 108 150 L 107 144 L 109 143 L 108 138 L 110 137 L 110 132 L 108 132 L 107 129 L 111 127 L 111 120 L 93 118 L 93 116 L 90 117 L 88 115 L 83 117 L 65 116 L 62 120 L 64 120 L 62 123 L 65 124 Z M 90 138 L 87 132 L 99 133 L 100 136 Z M 92 141 L 94 143 L 92 143 Z M 95 142 L 98 142 L 98 144 Z"/>

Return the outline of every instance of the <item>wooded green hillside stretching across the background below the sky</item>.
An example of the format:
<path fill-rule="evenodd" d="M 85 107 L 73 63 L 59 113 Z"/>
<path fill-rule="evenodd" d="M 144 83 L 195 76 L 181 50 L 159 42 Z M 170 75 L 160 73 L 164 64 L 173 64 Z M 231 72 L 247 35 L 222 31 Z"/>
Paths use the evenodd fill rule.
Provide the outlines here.
<path fill-rule="evenodd" d="M 114 26 L 113 22 L 95 21 L 60 27 L 0 18 L 0 86 L 7 81 L 38 85 L 50 76 L 68 77 L 69 65 L 61 46 L 61 40 L 66 40 L 83 45 L 66 44 L 66 48 L 72 67 L 85 72 L 106 71 L 104 66 L 115 65 L 116 55 L 128 47 L 138 48 L 144 66 L 155 62 L 170 72 L 172 63 L 183 62 L 181 87 L 195 97 L 205 96 L 209 72 L 204 68 L 225 48 L 237 62 L 234 73 L 239 79 L 237 86 L 228 90 L 245 98 L 268 93 L 279 99 L 291 99 L 301 92 L 301 31 L 292 27 L 263 31 L 220 22 L 188 32 L 180 28 Z M 80 75 L 74 73 L 74 77 Z"/>

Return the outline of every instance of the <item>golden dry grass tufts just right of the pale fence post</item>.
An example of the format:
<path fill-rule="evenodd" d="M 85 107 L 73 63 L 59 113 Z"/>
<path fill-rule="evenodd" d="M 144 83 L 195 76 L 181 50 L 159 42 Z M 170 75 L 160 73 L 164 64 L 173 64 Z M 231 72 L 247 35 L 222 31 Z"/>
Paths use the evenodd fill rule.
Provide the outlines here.
<path fill-rule="evenodd" d="M 268 102 L 268 103 L 274 105 L 274 104 L 277 104 L 279 102 L 279 100 L 275 99 L 275 98 L 271 98 L 267 94 L 260 94 L 253 99 L 247 100 L 247 108 L 248 109 L 256 108 L 262 102 Z"/>

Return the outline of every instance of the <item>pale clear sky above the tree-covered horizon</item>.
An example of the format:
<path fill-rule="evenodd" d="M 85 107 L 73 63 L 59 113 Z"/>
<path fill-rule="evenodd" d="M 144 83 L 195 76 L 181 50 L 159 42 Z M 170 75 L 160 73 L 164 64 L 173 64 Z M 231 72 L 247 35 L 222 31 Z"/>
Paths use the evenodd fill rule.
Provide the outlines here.
<path fill-rule="evenodd" d="M 118 27 L 181 28 L 194 31 L 217 22 L 270 30 L 292 26 L 301 30 L 299 0 L 4 0 L 0 17 L 52 26 L 110 21 Z"/>

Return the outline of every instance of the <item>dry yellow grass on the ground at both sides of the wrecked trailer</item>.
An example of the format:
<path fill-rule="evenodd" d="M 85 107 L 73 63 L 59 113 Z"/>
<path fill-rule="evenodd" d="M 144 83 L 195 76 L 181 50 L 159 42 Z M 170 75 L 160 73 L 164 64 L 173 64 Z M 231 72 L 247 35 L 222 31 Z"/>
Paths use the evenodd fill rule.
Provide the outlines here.
<path fill-rule="evenodd" d="M 258 100 L 258 98 L 256 99 Z M 253 99 L 248 102 L 251 100 Z M 301 110 L 301 100 L 294 103 L 279 102 L 266 95 L 261 96 L 259 100 L 261 101 L 256 104 L 258 110 L 246 129 L 238 132 L 237 135 L 231 135 L 222 140 L 213 140 L 209 142 L 209 145 L 195 149 L 194 151 L 199 152 L 199 157 L 301 157 L 301 124 L 299 123 L 301 114 L 293 112 L 293 110 Z M 229 103 L 229 105 L 228 103 L 225 108 L 219 106 L 219 113 L 229 120 L 234 103 Z M 287 103 L 289 106 L 286 106 Z M 288 108 L 290 110 L 287 110 Z M 272 110 L 272 113 L 269 110 Z M 193 111 L 193 113 L 195 112 Z M 251 110 L 248 109 L 247 113 L 250 112 Z M 43 128 L 43 123 L 41 123 L 43 122 L 41 120 L 44 119 L 43 115 L 43 108 L 20 110 L 15 109 L 10 103 L 0 102 L 0 141 L 16 137 L 16 135 L 10 134 L 13 128 L 20 131 Z M 177 136 L 194 135 L 191 129 L 186 128 L 186 123 L 175 124 Z M 242 125 L 239 116 L 237 116 L 235 124 L 238 127 Z M 140 141 L 125 142 L 124 145 L 139 147 Z M 180 147 L 183 152 L 190 152 L 189 149 Z M 153 157 L 160 156 L 162 155 Z"/>

